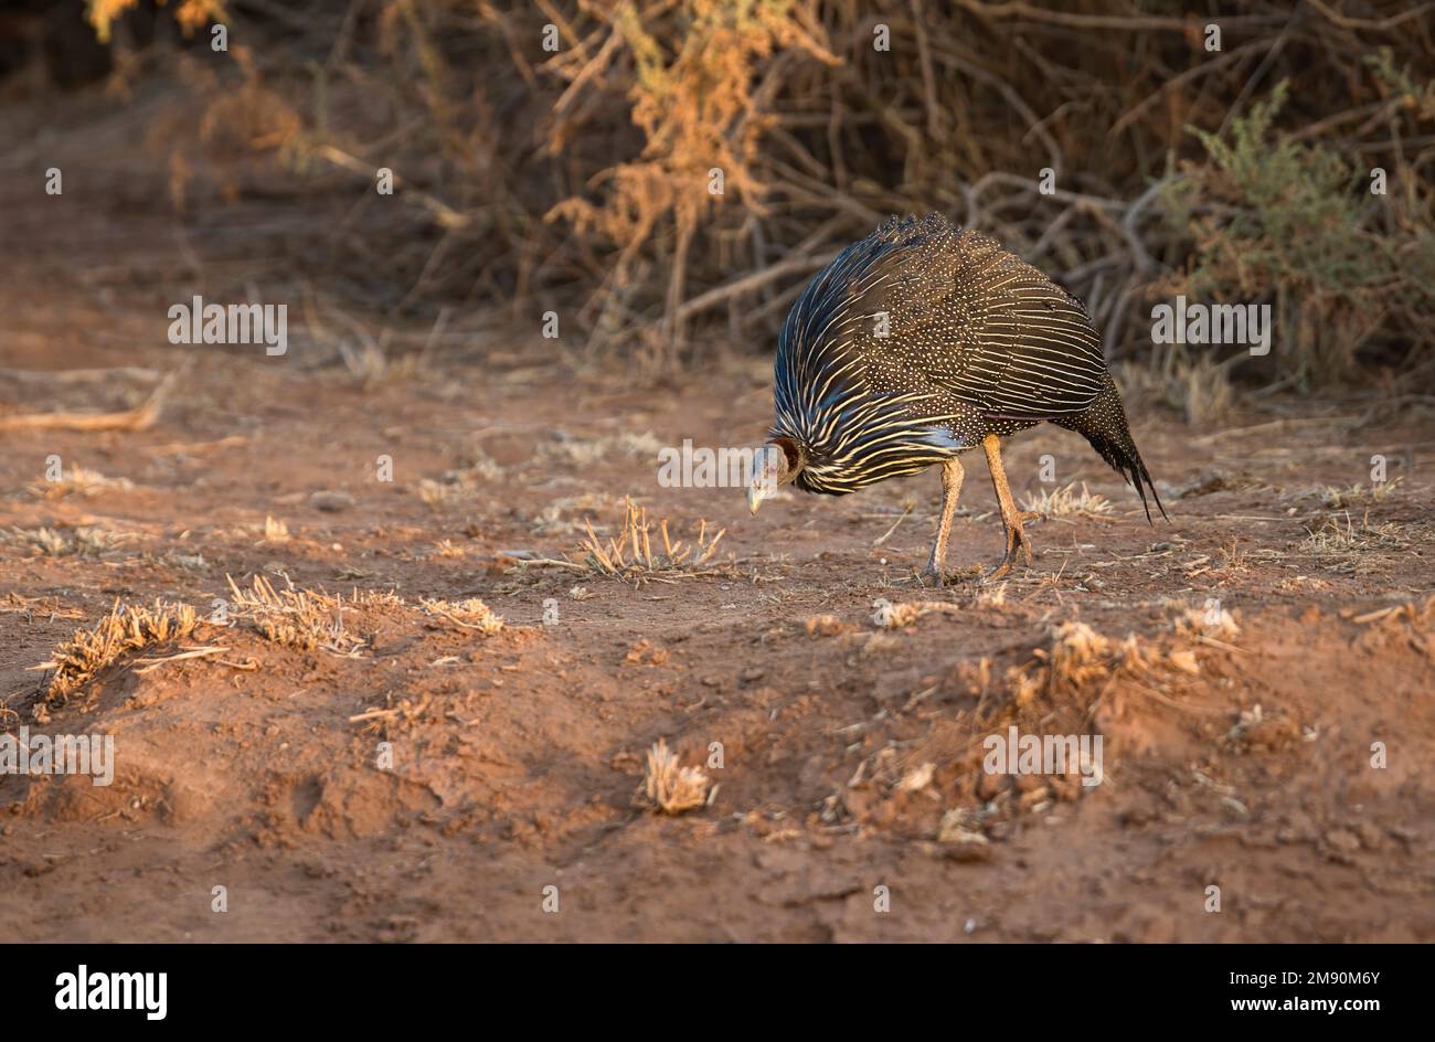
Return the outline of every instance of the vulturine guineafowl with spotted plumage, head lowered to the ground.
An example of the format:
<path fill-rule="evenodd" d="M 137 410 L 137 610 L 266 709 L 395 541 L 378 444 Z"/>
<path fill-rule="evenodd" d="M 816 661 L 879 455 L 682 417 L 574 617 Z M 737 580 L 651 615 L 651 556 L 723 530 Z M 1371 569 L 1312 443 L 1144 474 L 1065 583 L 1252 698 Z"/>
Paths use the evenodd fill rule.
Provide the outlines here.
<path fill-rule="evenodd" d="M 1002 439 L 1075 431 L 1167 518 L 1131 438 L 1086 306 L 990 235 L 943 214 L 890 217 L 818 271 L 788 311 L 773 362 L 775 422 L 753 451 L 748 507 L 778 488 L 847 495 L 941 466 L 936 541 L 918 583 L 941 586 L 960 455 L 982 448 L 1006 551 L 983 577 L 1032 564 Z"/>

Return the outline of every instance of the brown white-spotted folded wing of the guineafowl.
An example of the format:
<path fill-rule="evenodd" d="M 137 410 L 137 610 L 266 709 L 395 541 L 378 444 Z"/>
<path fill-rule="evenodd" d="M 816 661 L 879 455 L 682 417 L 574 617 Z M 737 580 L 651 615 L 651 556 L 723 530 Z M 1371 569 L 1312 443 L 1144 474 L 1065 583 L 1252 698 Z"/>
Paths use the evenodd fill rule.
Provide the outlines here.
<path fill-rule="evenodd" d="M 996 240 L 950 225 L 888 254 L 864 310 L 890 316 L 868 372 L 920 372 L 989 416 L 1049 419 L 1091 406 L 1109 379 L 1086 309 Z M 880 297 L 880 299 L 878 299 Z"/>

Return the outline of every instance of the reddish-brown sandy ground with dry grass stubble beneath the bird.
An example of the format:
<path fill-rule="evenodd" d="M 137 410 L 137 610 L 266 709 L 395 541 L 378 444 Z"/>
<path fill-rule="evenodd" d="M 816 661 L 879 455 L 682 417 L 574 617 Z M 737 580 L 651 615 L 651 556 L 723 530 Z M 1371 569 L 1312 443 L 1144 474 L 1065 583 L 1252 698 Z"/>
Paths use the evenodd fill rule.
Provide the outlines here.
<path fill-rule="evenodd" d="M 1435 939 L 1428 403 L 1277 400 L 1204 431 L 1134 408 L 1154 527 L 1039 428 L 1007 454 L 1017 494 L 1086 482 L 1111 514 L 1033 524 L 1035 567 L 982 587 L 961 570 L 1000 528 L 973 459 L 959 574 L 918 590 L 934 474 L 756 518 L 740 489 L 659 485 L 659 445 L 761 441 L 765 362 L 641 388 L 464 319 L 422 363 L 429 326 L 395 329 L 367 385 L 297 319 L 286 357 L 172 347 L 191 261 L 155 258 L 192 247 L 224 283 L 224 237 L 177 245 L 82 178 L 7 208 L 6 238 L 40 245 L 0 286 L 0 365 L 188 367 L 149 429 L 0 432 L 0 726 L 116 755 L 109 787 L 0 776 L 0 937 Z M 10 376 L 0 416 L 149 388 Z M 1393 489 L 1372 492 L 1373 454 Z M 109 482 L 46 482 L 55 455 Z M 585 570 L 585 522 L 611 532 L 626 497 L 682 538 L 725 528 L 705 574 Z M 393 597 L 344 603 L 349 654 L 204 626 L 188 643 L 222 653 L 123 659 L 42 705 L 32 667 L 76 629 L 116 601 L 208 613 L 227 577 Z M 505 627 L 422 606 L 471 597 Z M 947 607 L 880 627 L 883 599 Z M 1184 621 L 1211 600 L 1237 629 Z M 1013 723 L 1101 733 L 1104 784 L 987 774 L 982 739 Z M 636 802 L 657 739 L 690 766 L 720 743 L 709 805 Z"/>

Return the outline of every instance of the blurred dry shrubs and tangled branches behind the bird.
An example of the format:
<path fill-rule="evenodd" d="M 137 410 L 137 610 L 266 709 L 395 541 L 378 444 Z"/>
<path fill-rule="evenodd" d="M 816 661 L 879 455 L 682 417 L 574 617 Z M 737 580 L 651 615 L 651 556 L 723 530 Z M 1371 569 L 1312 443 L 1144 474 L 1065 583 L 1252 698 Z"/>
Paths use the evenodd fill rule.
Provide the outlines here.
<path fill-rule="evenodd" d="M 484 307 L 532 329 L 554 310 L 575 363 L 651 375 L 771 352 L 841 245 L 940 210 L 1082 297 L 1128 390 L 1190 422 L 1233 389 L 1435 382 L 1432 3 L 11 11 L 7 95 L 135 112 L 154 205 L 197 240 L 247 214 L 228 248 L 264 258 L 271 297 L 319 284 L 395 321 Z M 1177 294 L 1271 304 L 1271 355 L 1152 344 Z"/>

